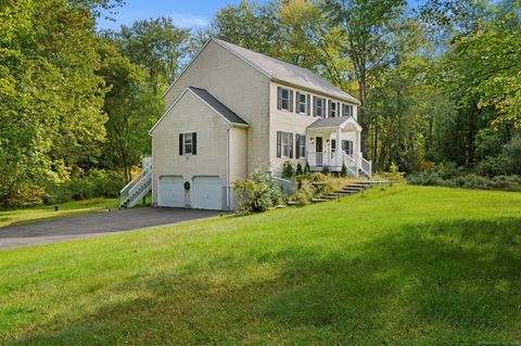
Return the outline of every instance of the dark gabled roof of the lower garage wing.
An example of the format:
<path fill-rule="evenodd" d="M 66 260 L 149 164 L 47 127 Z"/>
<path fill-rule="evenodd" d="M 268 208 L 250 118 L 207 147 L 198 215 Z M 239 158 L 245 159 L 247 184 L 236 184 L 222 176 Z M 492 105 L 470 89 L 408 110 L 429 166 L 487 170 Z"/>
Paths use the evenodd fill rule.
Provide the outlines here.
<path fill-rule="evenodd" d="M 225 120 L 230 126 L 240 126 L 240 127 L 247 127 L 249 124 L 237 115 L 233 111 L 228 108 L 223 102 L 217 100 L 214 95 L 212 95 L 208 91 L 201 88 L 195 87 L 188 87 L 185 91 L 177 98 L 176 101 L 171 103 L 171 105 L 166 110 L 163 116 L 154 124 L 154 126 L 150 129 L 149 133 L 152 134 L 154 129 L 163 121 L 163 119 L 168 115 L 171 108 L 181 100 L 187 92 L 193 94 L 196 99 L 201 102 L 206 104 L 212 111 L 214 111 L 223 120 Z"/>

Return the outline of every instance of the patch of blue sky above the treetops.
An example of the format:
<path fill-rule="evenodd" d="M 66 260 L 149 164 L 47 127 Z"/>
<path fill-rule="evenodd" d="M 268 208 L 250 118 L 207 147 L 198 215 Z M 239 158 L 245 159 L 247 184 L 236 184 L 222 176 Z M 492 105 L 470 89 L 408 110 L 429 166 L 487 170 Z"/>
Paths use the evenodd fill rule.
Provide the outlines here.
<path fill-rule="evenodd" d="M 126 0 L 112 15 L 115 22 L 98 20 L 101 29 L 118 29 L 122 25 L 131 25 L 135 21 L 170 16 L 178 27 L 189 28 L 206 26 L 214 14 L 223 7 L 239 3 L 240 0 Z M 265 1 L 256 1 L 265 2 Z"/>

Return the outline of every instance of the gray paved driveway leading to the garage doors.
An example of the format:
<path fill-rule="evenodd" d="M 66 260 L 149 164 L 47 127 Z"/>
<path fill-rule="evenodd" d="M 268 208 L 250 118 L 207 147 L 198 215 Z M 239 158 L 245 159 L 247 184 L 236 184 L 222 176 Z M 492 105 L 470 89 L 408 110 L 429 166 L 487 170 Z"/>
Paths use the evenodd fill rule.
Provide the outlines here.
<path fill-rule="evenodd" d="M 0 249 L 192 221 L 220 212 L 139 207 L 0 228 Z"/>

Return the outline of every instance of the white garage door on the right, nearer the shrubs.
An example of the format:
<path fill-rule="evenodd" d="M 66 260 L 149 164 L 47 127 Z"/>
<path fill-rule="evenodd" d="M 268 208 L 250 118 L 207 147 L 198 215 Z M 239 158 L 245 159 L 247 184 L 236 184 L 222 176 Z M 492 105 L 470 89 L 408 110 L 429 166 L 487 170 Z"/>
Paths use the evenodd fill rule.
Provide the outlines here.
<path fill-rule="evenodd" d="M 219 177 L 193 178 L 193 203 L 196 209 L 223 209 L 223 184 Z"/>

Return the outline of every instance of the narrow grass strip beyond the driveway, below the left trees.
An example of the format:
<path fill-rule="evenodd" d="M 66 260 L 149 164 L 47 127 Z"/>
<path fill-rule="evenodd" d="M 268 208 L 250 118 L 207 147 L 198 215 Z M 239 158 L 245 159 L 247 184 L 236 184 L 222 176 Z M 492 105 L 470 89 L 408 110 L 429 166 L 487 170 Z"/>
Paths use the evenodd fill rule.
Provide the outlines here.
<path fill-rule="evenodd" d="M 58 212 L 54 210 L 54 205 L 0 212 L 0 228 L 14 223 L 93 213 L 107 208 L 117 208 L 118 205 L 119 198 L 92 198 L 58 204 Z"/>

